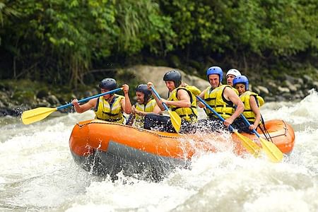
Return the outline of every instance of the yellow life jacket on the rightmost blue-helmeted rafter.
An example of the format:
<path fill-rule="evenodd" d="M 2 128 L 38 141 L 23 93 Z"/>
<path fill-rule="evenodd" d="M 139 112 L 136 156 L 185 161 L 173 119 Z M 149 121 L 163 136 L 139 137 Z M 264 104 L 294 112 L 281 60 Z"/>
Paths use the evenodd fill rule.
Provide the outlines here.
<path fill-rule="evenodd" d="M 261 105 L 264 105 L 264 99 L 261 98 L 257 93 L 253 93 L 249 90 L 245 91 L 245 93 L 242 93 L 240 95 L 240 99 L 242 100 L 245 109 L 243 111 L 243 115 L 249 122 L 254 122 L 255 121 L 255 114 L 252 111 L 251 105 L 249 104 L 249 99 L 251 98 L 251 95 L 255 97 L 257 100 L 257 106 L 261 107 Z"/>

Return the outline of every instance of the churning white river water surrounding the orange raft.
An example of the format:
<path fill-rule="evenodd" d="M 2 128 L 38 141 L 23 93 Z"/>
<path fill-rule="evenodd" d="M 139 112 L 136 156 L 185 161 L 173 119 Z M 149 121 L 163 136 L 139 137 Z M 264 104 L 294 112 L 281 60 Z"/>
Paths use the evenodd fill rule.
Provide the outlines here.
<path fill-rule="evenodd" d="M 0 119 L 0 211 L 318 211 L 318 94 L 300 102 L 270 102 L 264 119 L 295 129 L 293 153 L 282 163 L 201 153 L 192 170 L 162 182 L 119 175 L 101 179 L 76 165 L 69 151 L 73 125 L 93 113 L 47 117 L 25 126 Z"/>

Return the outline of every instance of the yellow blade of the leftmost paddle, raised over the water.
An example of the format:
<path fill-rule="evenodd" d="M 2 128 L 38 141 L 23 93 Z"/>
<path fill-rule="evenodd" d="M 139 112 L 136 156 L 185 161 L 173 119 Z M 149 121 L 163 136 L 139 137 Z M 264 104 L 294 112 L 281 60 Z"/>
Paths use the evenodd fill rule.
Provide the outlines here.
<path fill-rule="evenodd" d="M 21 116 L 22 122 L 23 124 L 32 124 L 34 122 L 38 122 L 54 111 L 57 111 L 57 108 L 37 107 L 33 110 L 27 110 L 23 112 Z"/>

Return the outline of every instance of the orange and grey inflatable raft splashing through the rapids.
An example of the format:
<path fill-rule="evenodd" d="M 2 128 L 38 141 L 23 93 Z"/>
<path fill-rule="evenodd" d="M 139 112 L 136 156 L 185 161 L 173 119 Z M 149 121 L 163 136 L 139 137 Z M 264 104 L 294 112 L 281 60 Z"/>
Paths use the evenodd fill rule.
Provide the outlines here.
<path fill-rule="evenodd" d="M 266 122 L 271 141 L 285 154 L 293 150 L 293 128 L 283 120 Z M 256 143 L 252 134 L 242 133 Z M 259 131 L 262 136 L 262 132 Z M 216 152 L 218 144 L 230 144 L 237 155 L 246 153 L 235 134 L 173 134 L 137 129 L 97 119 L 79 122 L 73 127 L 69 146 L 74 160 L 95 175 L 116 177 L 143 173 L 158 179 L 175 167 L 189 167 L 198 152 Z"/>

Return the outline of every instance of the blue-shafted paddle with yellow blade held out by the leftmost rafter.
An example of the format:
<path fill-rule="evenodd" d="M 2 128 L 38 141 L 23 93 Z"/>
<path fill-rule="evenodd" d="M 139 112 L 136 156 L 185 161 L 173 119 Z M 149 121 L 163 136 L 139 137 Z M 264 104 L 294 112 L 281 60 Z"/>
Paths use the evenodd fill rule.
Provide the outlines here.
<path fill-rule="evenodd" d="M 100 93 L 100 94 L 97 94 L 97 95 L 90 96 L 90 97 L 85 98 L 83 100 L 78 100 L 78 103 L 86 102 L 86 101 L 91 100 L 93 98 L 98 98 L 98 97 L 100 97 L 102 95 L 107 95 L 107 94 L 110 94 L 110 93 L 116 93 L 119 90 L 122 90 L 122 88 L 117 88 L 117 89 L 114 89 L 114 90 L 107 91 L 105 93 Z M 25 112 L 23 112 L 23 114 L 21 116 L 22 122 L 23 122 L 23 124 L 32 124 L 34 122 L 38 122 L 38 121 L 40 121 L 42 119 L 45 119 L 45 117 L 47 117 L 52 112 L 64 109 L 64 108 L 69 107 L 71 105 L 73 105 L 73 104 L 69 103 L 67 105 L 61 105 L 61 106 L 55 107 L 55 108 L 37 107 L 37 108 L 32 109 L 32 110 L 26 110 Z"/>

